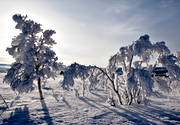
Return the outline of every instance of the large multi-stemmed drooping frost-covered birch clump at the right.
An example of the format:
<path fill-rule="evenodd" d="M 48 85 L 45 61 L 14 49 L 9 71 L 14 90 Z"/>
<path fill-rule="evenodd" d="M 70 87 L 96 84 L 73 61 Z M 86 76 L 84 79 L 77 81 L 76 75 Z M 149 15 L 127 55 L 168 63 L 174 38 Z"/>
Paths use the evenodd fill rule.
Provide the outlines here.
<path fill-rule="evenodd" d="M 122 99 L 119 102 L 131 104 L 134 100 L 139 103 L 144 97 L 152 95 L 155 84 L 159 86 L 159 89 L 169 91 L 169 83 L 178 81 L 180 78 L 177 57 L 171 54 L 165 42 L 152 43 L 149 35 L 141 36 L 131 45 L 121 47 L 109 59 L 107 68 L 112 79 L 116 69 L 119 67 L 123 69 L 123 75 L 114 79 L 113 86 L 116 87 L 112 86 L 116 95 L 121 97 L 118 99 Z M 167 68 L 169 77 L 152 77 L 153 70 L 158 66 Z"/>

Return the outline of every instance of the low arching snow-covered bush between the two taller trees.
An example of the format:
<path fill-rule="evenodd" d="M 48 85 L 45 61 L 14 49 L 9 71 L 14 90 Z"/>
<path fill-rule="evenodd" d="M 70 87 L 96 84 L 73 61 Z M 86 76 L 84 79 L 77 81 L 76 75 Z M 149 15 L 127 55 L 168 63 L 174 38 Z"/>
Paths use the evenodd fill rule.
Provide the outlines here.
<path fill-rule="evenodd" d="M 74 87 L 75 93 L 77 93 L 77 90 L 80 93 L 80 88 L 82 88 L 83 96 L 87 91 L 91 92 L 91 90 L 96 89 L 98 86 L 105 89 L 108 81 L 102 71 L 98 68 L 99 67 L 96 66 L 85 66 L 73 63 L 61 72 L 64 79 L 60 84 L 65 90 L 71 90 L 70 88 Z M 75 79 L 80 80 L 76 85 Z"/>

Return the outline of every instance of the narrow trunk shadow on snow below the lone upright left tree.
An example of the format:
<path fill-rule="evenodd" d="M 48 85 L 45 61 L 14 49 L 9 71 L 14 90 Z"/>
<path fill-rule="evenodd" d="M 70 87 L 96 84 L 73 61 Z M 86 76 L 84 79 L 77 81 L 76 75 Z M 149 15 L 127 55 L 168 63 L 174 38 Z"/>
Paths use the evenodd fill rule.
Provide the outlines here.
<path fill-rule="evenodd" d="M 44 117 L 41 118 L 41 119 L 44 120 L 44 121 L 46 121 L 46 123 L 47 123 L 48 125 L 54 125 L 53 119 L 52 119 L 52 117 L 51 117 L 50 114 L 49 114 L 49 110 L 48 110 L 48 108 L 47 108 L 46 103 L 45 103 L 44 100 L 41 100 L 41 106 L 42 106 L 42 110 L 44 111 Z"/>

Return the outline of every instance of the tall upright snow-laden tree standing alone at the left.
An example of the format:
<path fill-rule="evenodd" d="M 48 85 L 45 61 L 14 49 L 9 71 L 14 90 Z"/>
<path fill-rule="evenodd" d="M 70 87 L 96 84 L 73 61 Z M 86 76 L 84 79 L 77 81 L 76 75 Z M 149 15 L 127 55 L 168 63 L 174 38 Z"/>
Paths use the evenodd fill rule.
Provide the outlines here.
<path fill-rule="evenodd" d="M 56 42 L 51 36 L 55 31 L 43 30 L 41 24 L 20 14 L 15 14 L 13 20 L 17 23 L 15 28 L 21 32 L 12 39 L 11 47 L 7 48 L 15 62 L 4 77 L 4 82 L 12 90 L 23 93 L 33 90 L 36 81 L 40 99 L 43 99 L 42 80 L 55 78 L 59 67 L 58 58 L 52 50 Z"/>

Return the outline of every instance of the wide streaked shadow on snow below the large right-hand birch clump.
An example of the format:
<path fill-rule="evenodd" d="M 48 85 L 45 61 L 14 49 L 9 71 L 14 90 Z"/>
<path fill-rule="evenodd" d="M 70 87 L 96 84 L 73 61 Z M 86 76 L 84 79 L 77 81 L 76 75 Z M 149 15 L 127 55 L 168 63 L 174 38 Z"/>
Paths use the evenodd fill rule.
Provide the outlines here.
<path fill-rule="evenodd" d="M 129 106 L 128 109 L 118 108 L 124 112 L 119 112 L 115 108 L 109 109 L 136 124 L 156 125 L 157 122 L 164 125 L 180 124 L 180 113 L 164 108 L 144 105 L 133 105 Z"/>

